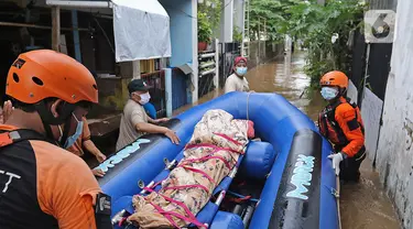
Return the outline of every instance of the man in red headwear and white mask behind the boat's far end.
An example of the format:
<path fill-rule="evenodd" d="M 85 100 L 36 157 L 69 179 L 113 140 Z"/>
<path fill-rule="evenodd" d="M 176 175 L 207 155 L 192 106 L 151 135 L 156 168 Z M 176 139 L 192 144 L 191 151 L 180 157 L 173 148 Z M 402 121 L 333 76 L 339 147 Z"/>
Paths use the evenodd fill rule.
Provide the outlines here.
<path fill-rule="evenodd" d="M 247 58 L 238 56 L 233 62 L 233 74 L 228 76 L 225 81 L 225 92 L 231 91 L 249 91 L 247 74 Z"/>

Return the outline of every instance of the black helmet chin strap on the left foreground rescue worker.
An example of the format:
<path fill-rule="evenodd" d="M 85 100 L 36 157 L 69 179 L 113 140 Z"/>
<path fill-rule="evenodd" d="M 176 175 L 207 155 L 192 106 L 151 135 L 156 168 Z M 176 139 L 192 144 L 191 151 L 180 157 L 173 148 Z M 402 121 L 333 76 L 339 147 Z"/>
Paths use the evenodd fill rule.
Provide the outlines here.
<path fill-rule="evenodd" d="M 63 135 L 59 142 L 57 142 L 53 135 L 51 126 L 59 126 L 65 123 L 65 127 L 70 127 L 72 120 L 72 112 L 75 110 L 75 105 L 65 102 L 63 105 L 63 109 L 61 110 L 59 117 L 56 118 L 52 115 L 52 112 L 47 109 L 47 105 L 44 101 L 41 101 L 35 105 L 36 111 L 40 115 L 40 118 L 43 123 L 43 128 L 46 133 L 46 138 L 52 140 L 52 142 L 56 142 L 59 146 L 63 146 L 67 140 L 69 128 L 65 128 L 63 130 Z"/>

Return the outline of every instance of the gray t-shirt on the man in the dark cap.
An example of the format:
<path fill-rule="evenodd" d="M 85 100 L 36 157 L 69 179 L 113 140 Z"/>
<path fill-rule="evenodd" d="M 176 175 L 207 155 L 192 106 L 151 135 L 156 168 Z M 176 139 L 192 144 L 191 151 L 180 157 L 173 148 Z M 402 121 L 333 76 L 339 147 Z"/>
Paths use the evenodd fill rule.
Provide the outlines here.
<path fill-rule="evenodd" d="M 117 151 L 137 141 L 139 137 L 144 134 L 137 130 L 137 124 L 140 122 L 148 122 L 148 115 L 142 105 L 129 99 L 120 119 L 119 138 L 116 144 Z"/>

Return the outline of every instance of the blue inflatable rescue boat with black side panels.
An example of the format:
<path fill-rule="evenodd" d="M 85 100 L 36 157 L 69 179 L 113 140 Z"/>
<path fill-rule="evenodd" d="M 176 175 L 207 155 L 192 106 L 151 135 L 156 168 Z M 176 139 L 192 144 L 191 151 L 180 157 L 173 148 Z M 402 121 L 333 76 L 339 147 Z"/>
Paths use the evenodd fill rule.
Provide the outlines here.
<path fill-rule="evenodd" d="M 144 195 L 183 157 L 195 124 L 210 109 L 254 123 L 256 137 L 237 166 L 216 187 L 214 198 L 196 215 L 207 228 L 337 229 L 336 176 L 327 155 L 332 145 L 314 122 L 276 94 L 230 92 L 196 106 L 165 126 L 181 139 L 143 135 L 99 165 L 98 182 L 111 196 L 115 228 L 133 212 L 132 196 Z M 155 187 L 154 187 L 155 189 Z M 193 225 L 189 225 L 191 228 Z"/>

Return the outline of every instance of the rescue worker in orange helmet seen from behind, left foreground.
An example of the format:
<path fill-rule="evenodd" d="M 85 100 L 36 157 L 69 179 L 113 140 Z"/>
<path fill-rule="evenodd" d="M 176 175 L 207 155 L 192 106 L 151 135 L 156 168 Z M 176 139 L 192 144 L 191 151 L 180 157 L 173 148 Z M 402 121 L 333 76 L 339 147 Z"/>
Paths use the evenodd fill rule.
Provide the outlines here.
<path fill-rule="evenodd" d="M 87 164 L 62 149 L 98 102 L 89 70 L 54 51 L 23 53 L 6 94 L 14 110 L 0 126 L 0 228 L 111 228 L 110 197 Z"/>

